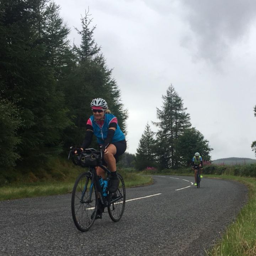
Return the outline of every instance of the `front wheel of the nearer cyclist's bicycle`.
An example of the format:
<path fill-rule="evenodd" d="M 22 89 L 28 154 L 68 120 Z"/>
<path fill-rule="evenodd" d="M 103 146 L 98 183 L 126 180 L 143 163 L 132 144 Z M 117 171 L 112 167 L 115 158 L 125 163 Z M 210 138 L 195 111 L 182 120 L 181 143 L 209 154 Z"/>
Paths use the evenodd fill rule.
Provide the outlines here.
<path fill-rule="evenodd" d="M 79 175 L 75 181 L 71 196 L 72 218 L 76 228 L 81 232 L 88 231 L 91 228 L 98 208 L 97 189 L 95 184 L 91 186 L 91 181 L 90 172 L 84 172 Z M 83 192 L 84 196 L 82 196 Z"/>

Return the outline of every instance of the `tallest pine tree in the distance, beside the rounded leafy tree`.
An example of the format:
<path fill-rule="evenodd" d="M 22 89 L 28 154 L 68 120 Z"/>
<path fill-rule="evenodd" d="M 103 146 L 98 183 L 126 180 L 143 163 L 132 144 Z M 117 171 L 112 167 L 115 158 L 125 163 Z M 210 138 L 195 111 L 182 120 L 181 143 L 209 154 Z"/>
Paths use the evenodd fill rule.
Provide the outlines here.
<path fill-rule="evenodd" d="M 177 94 L 174 86 L 170 85 L 166 95 L 162 96 L 162 110 L 157 108 L 160 122 L 153 122 L 159 127 L 157 137 L 157 155 L 161 168 L 177 167 L 179 165 L 176 154 L 176 143 L 182 132 L 191 126 L 190 115 L 183 106 L 182 98 Z"/>

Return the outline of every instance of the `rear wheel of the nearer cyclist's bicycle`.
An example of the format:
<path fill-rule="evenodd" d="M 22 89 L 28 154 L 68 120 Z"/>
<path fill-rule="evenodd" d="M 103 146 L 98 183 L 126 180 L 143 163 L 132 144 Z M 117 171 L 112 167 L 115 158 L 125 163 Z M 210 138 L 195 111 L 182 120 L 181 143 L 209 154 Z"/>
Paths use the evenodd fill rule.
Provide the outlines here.
<path fill-rule="evenodd" d="M 126 190 L 124 185 L 123 177 L 117 174 L 119 178 L 119 188 L 115 193 L 110 194 L 111 204 L 108 206 L 108 215 L 113 222 L 118 222 L 124 213 L 125 201 L 126 201 Z"/>

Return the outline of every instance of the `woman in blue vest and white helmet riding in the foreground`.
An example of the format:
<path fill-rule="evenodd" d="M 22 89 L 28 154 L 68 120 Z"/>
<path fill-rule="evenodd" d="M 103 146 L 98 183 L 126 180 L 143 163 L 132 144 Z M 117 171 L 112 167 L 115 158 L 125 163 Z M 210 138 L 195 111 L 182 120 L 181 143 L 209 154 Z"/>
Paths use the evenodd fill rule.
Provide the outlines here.
<path fill-rule="evenodd" d="M 119 180 L 116 172 L 118 157 L 126 151 L 126 140 L 121 131 L 117 118 L 108 110 L 107 102 L 102 98 L 95 98 L 91 102 L 92 115 L 86 124 L 86 133 L 81 150 L 88 148 L 92 141 L 92 135 L 97 138 L 97 143 L 102 147 L 104 157 L 103 165 L 111 171 L 111 182 L 108 191 L 116 192 Z M 75 151 L 76 153 L 76 151 Z M 96 169 L 97 175 L 105 178 L 105 171 L 101 167 Z"/>

